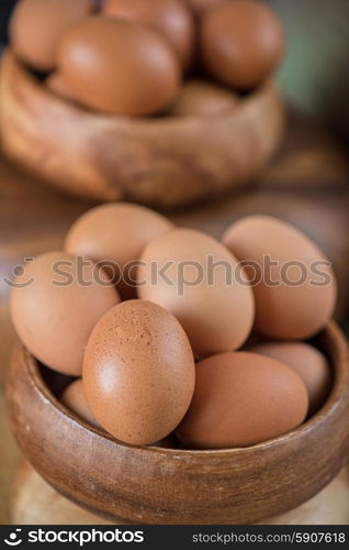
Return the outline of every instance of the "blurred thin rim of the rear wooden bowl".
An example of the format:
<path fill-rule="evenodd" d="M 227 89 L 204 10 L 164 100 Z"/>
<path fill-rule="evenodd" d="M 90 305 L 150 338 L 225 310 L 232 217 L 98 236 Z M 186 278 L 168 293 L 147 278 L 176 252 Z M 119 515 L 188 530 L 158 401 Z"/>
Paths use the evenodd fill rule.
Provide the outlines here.
<path fill-rule="evenodd" d="M 131 124 L 133 125 L 138 125 L 139 128 L 143 129 L 154 129 L 154 128 L 159 128 L 161 125 L 161 129 L 168 128 L 169 130 L 177 130 L 177 129 L 182 129 L 183 127 L 185 128 L 189 124 L 192 123 L 199 123 L 201 124 L 202 122 L 207 122 L 207 121 L 221 121 L 222 119 L 226 117 L 232 117 L 236 116 L 238 117 L 239 113 L 244 112 L 245 109 L 249 109 L 250 106 L 254 103 L 258 103 L 260 100 L 263 99 L 266 95 L 268 95 L 271 90 L 274 92 L 280 94 L 280 88 L 277 84 L 277 81 L 272 78 L 268 78 L 264 80 L 258 88 L 255 90 L 250 91 L 246 96 L 239 97 L 239 105 L 235 108 L 224 110 L 223 112 L 218 112 L 215 114 L 207 114 L 207 116 L 195 116 L 195 114 L 190 114 L 190 116 L 169 116 L 169 114 L 162 114 L 159 117 L 156 116 L 148 116 L 148 117 L 131 117 L 131 116 L 117 116 L 117 114 L 109 114 L 109 113 L 103 113 L 103 112 L 98 112 L 93 111 L 92 109 L 89 109 L 87 107 L 83 107 L 79 103 L 75 103 L 74 101 L 69 101 L 54 91 L 49 90 L 45 84 L 44 80 L 41 81 L 31 70 L 30 67 L 27 67 L 21 59 L 16 57 L 14 52 L 11 50 L 10 46 L 8 46 L 2 55 L 2 62 L 1 63 L 10 63 L 15 67 L 15 70 L 19 70 L 22 75 L 22 77 L 33 87 L 35 87 L 42 95 L 46 97 L 46 99 L 49 99 L 53 103 L 57 103 L 59 106 L 64 106 L 66 109 L 71 110 L 75 113 L 79 113 L 80 116 L 86 116 L 90 118 L 94 118 L 97 120 L 100 120 L 101 122 L 103 121 L 109 121 L 113 122 L 120 127 L 130 127 Z M 204 80 L 204 79 L 203 79 Z M 184 81 L 184 80 L 183 80 Z M 207 79 L 209 82 L 211 80 Z M 219 86 L 219 82 L 213 81 L 213 84 L 216 84 Z M 228 88 L 224 87 L 224 89 L 229 90 Z"/>

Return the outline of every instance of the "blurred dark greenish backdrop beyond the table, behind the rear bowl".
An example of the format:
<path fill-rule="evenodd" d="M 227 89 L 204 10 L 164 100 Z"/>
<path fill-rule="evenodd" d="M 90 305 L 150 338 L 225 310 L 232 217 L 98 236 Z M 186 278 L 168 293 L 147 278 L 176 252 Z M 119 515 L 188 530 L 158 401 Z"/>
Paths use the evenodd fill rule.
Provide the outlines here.
<path fill-rule="evenodd" d="M 16 0 L 0 2 L 0 42 Z M 264 0 L 286 29 L 288 55 L 279 75 L 284 95 L 349 139 L 349 7 L 347 0 Z"/>

